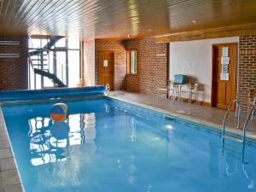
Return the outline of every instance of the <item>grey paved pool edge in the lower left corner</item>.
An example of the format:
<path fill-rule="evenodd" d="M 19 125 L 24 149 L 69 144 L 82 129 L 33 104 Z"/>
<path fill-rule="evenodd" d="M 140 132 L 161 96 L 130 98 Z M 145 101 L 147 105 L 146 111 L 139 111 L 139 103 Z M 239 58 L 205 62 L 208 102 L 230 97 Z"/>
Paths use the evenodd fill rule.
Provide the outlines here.
<path fill-rule="evenodd" d="M 0 191 L 3 190 L 3 192 L 8 192 L 8 191 L 25 192 L 23 188 L 23 184 L 21 183 L 20 172 L 18 170 L 14 151 L 9 140 L 9 134 L 3 118 L 3 111 L 1 107 L 0 107 L 0 133 L 1 133 L 0 142 L 1 140 L 6 142 L 5 147 L 0 147 L 0 151 L 4 152 L 0 156 L 0 162 L 1 162 L 0 163 L 0 187 L 2 187 Z M 13 161 L 13 163 L 15 164 L 14 167 L 10 169 L 3 169 L 3 167 L 1 166 L 3 163 L 3 160 Z M 8 177 L 5 177 L 7 175 Z M 12 178 L 12 179 L 9 179 L 9 178 Z"/>

